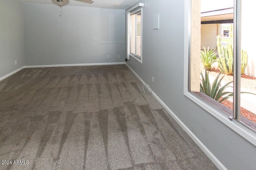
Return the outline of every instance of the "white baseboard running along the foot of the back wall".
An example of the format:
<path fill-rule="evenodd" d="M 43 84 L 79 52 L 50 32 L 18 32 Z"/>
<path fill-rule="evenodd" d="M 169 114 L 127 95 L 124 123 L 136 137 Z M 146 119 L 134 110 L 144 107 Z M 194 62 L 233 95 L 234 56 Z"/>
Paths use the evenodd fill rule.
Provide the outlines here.
<path fill-rule="evenodd" d="M 34 65 L 34 66 L 24 66 L 24 68 L 66 67 L 66 66 L 100 66 L 100 65 L 117 65 L 117 64 L 125 64 L 125 62 L 120 62 L 120 63 L 86 63 L 86 64 Z"/>

